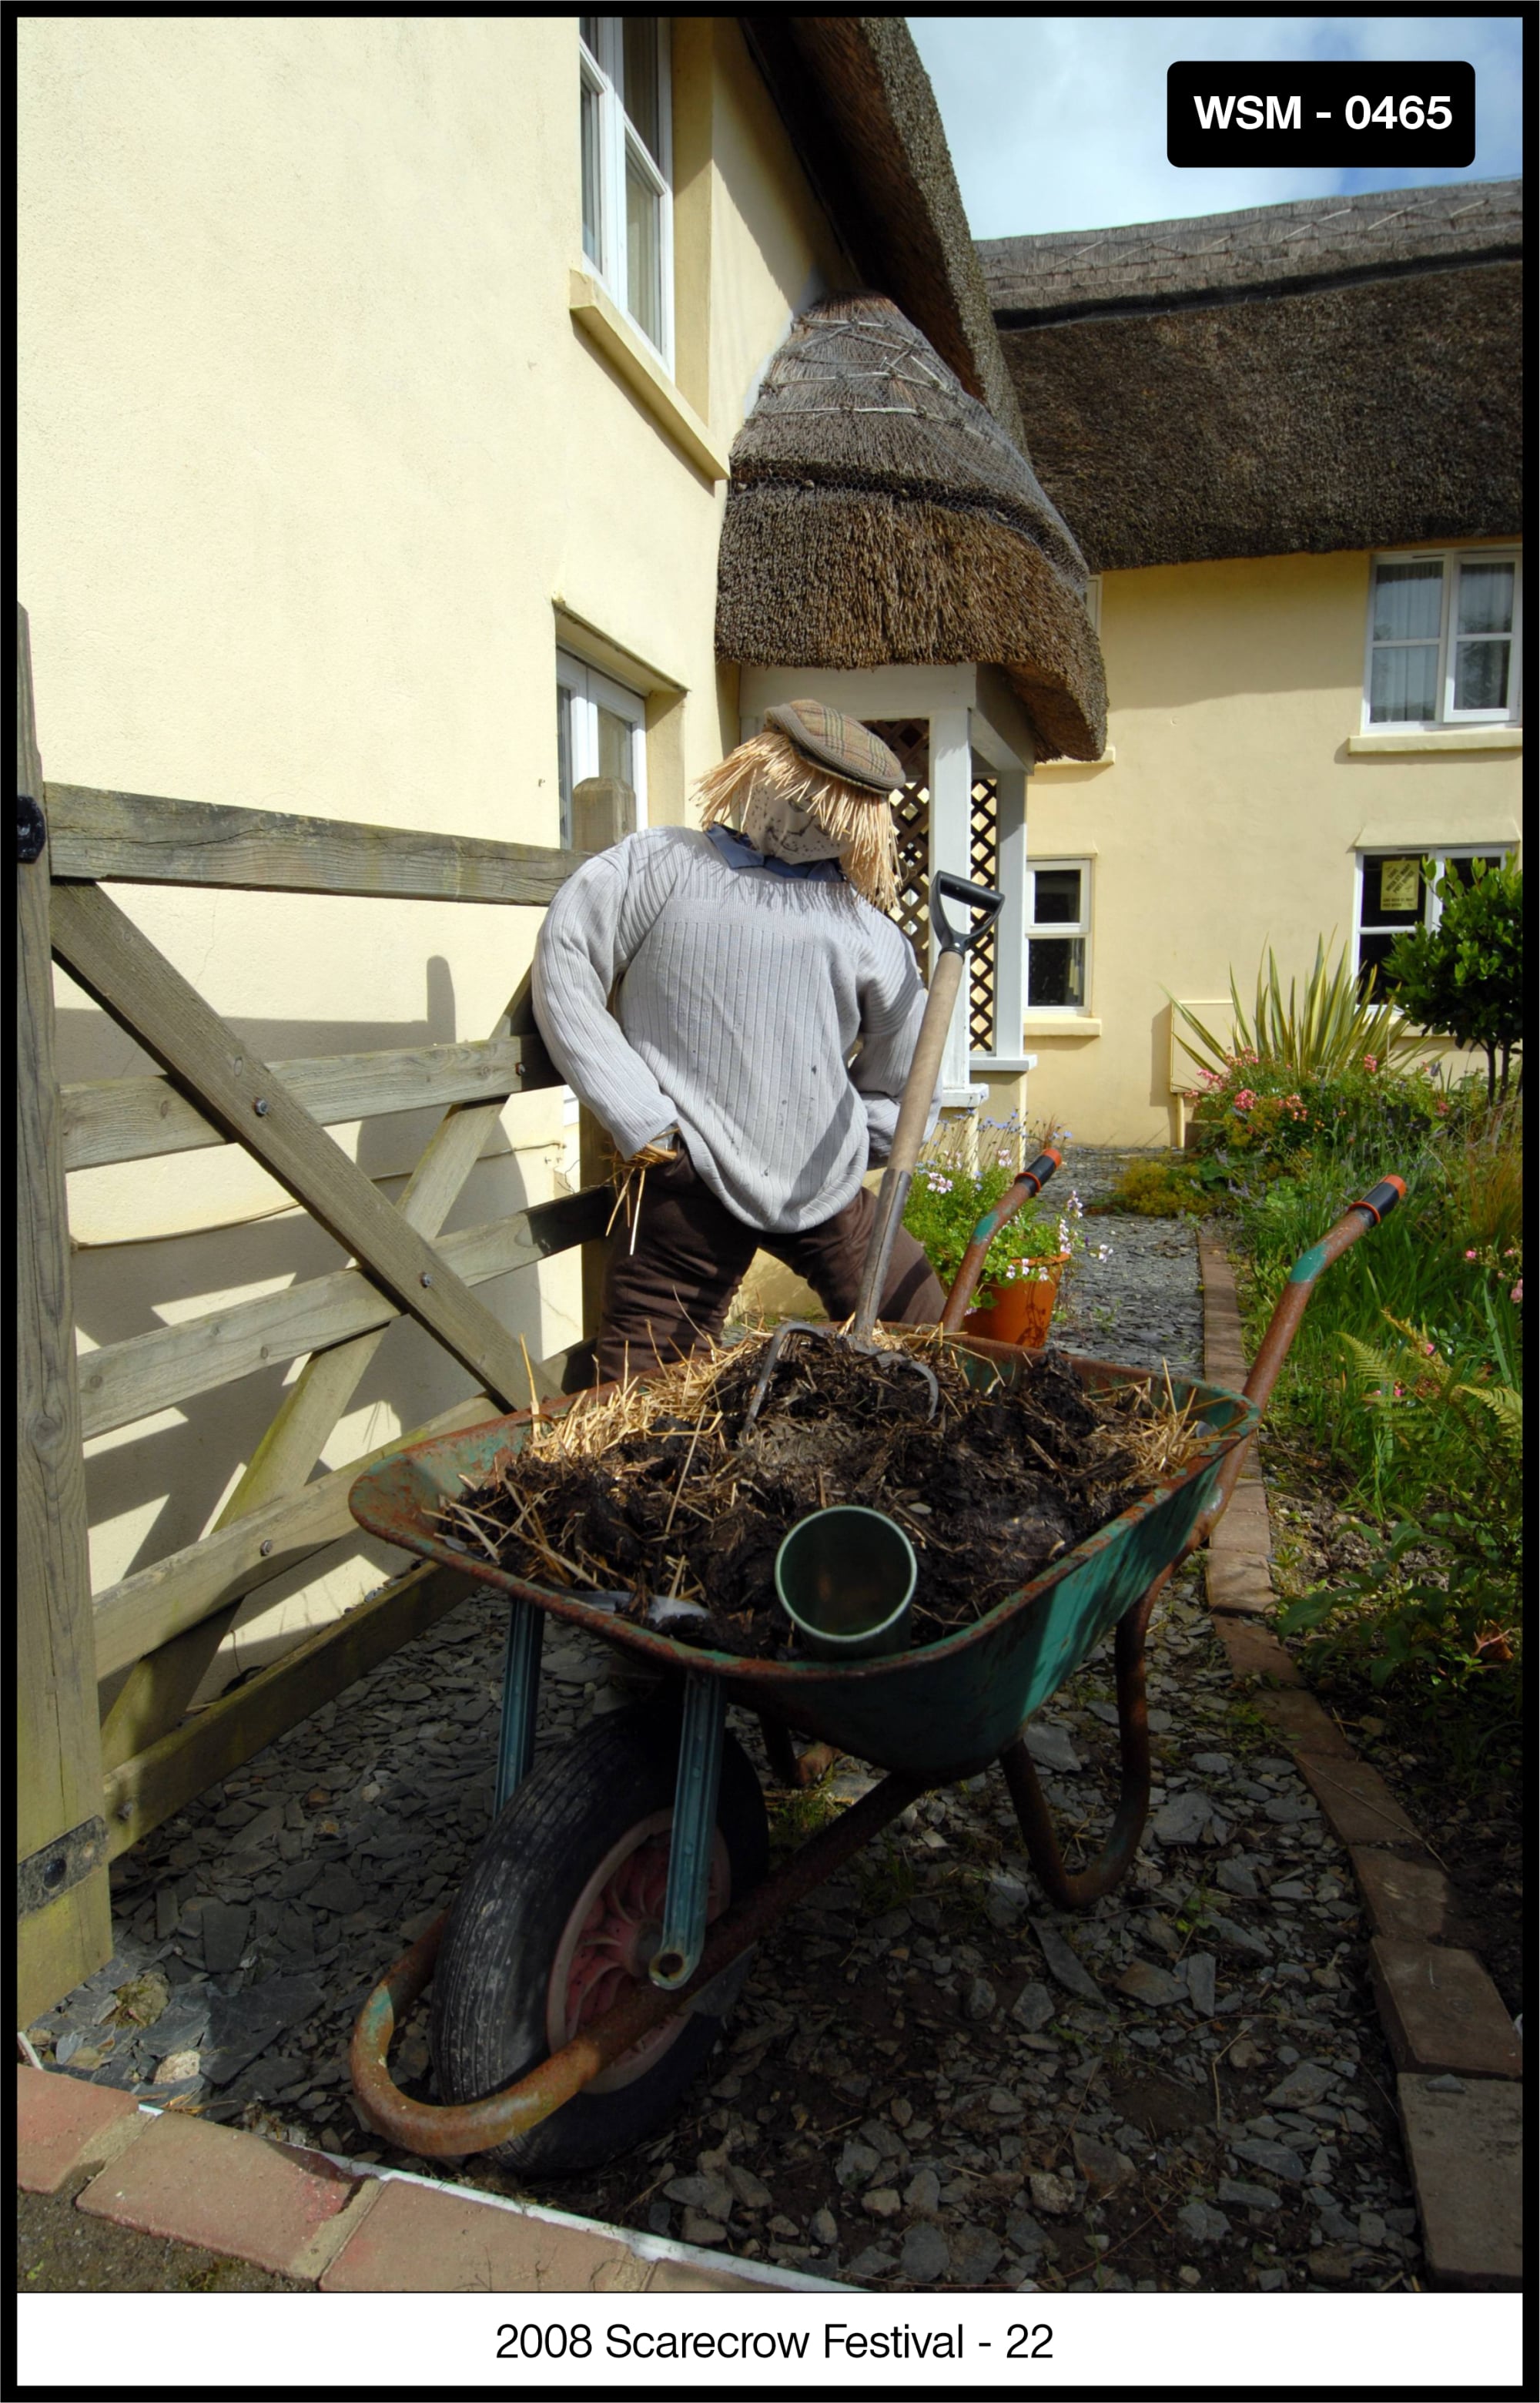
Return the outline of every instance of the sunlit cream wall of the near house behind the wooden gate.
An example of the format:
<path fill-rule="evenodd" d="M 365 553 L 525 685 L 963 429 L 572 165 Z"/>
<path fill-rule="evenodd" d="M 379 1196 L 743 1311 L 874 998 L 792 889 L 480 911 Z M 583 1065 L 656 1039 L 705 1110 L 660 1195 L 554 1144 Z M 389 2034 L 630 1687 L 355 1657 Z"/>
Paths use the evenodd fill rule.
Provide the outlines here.
<path fill-rule="evenodd" d="M 726 449 L 841 255 L 730 19 L 675 26 L 675 127 L 678 372 Z M 19 594 L 53 781 L 555 843 L 560 606 L 649 692 L 651 815 L 685 815 L 735 723 L 726 488 L 569 315 L 577 19 L 34 17 L 19 231 Z M 488 1033 L 538 923 L 115 899 L 269 1060 Z M 58 1009 L 65 1079 L 149 1067 L 65 978 Z M 332 1132 L 399 1192 L 430 1129 Z M 509 1101 L 449 1223 L 543 1199 L 565 1146 L 557 1096 Z M 339 1262 L 238 1156 L 89 1170 L 70 1206 L 86 1348 Z M 572 1262 L 480 1290 L 536 1355 L 577 1334 Z M 89 1447 L 99 1586 L 209 1526 L 288 1375 Z M 394 1329 L 327 1463 L 466 1389 Z M 255 1596 L 238 1665 L 387 1560 L 341 1545 Z"/>

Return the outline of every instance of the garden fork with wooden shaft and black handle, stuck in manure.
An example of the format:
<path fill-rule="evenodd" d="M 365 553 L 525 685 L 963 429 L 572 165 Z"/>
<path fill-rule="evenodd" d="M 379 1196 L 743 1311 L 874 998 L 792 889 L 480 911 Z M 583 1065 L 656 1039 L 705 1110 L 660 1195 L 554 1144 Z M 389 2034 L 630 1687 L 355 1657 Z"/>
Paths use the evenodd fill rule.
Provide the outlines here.
<path fill-rule="evenodd" d="M 973 911 L 983 911 L 966 930 L 949 923 L 944 904 L 963 901 Z M 951 1009 L 956 1004 L 956 992 L 963 980 L 963 959 L 973 949 L 980 935 L 995 925 L 999 911 L 1004 908 L 1004 894 L 990 892 L 987 884 L 968 884 L 963 877 L 939 875 L 930 887 L 930 923 L 937 937 L 937 961 L 930 973 L 930 992 L 925 997 L 925 1016 L 920 1019 L 920 1038 L 915 1043 L 915 1055 L 908 1065 L 908 1077 L 903 1084 L 903 1098 L 899 1103 L 899 1125 L 894 1127 L 894 1149 L 889 1151 L 887 1168 L 882 1173 L 882 1185 L 877 1187 L 877 1216 L 872 1221 L 872 1235 L 867 1242 L 867 1257 L 860 1271 L 860 1290 L 855 1295 L 855 1317 L 848 1329 L 822 1326 L 814 1319 L 786 1319 L 776 1326 L 764 1353 L 764 1365 L 754 1379 L 754 1391 L 750 1394 L 750 1406 L 742 1418 L 742 1435 L 750 1432 L 759 1415 L 759 1403 L 769 1391 L 769 1382 L 776 1375 L 781 1353 L 786 1350 L 788 1336 L 822 1336 L 824 1341 L 846 1343 L 850 1350 L 865 1353 L 870 1360 L 879 1360 L 884 1367 L 908 1367 L 925 1377 L 930 1387 L 930 1411 L 937 1406 L 937 1382 L 923 1360 L 913 1353 L 889 1350 L 872 1341 L 872 1326 L 877 1324 L 877 1305 L 882 1300 L 882 1288 L 887 1283 L 887 1264 L 894 1257 L 894 1238 L 903 1221 L 903 1204 L 908 1202 L 908 1187 L 915 1173 L 915 1161 L 920 1158 L 920 1144 L 925 1141 L 925 1120 L 930 1117 L 930 1096 L 935 1093 L 937 1077 L 942 1072 L 942 1053 L 947 1050 L 947 1028 L 951 1026 Z"/>

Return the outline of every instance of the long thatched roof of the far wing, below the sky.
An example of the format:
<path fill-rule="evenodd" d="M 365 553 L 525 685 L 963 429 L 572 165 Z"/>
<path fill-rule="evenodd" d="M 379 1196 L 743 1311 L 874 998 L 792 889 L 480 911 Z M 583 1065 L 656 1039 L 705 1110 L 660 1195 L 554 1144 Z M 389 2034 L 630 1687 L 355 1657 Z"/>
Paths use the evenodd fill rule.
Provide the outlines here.
<path fill-rule="evenodd" d="M 980 243 L 1093 567 L 1521 526 L 1521 185 Z"/>

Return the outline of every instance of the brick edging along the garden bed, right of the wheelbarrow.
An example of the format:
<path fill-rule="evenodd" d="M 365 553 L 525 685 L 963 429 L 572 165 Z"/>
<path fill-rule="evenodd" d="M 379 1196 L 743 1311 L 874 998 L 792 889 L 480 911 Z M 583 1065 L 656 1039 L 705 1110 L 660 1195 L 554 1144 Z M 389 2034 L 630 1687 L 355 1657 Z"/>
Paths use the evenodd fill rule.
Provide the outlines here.
<path fill-rule="evenodd" d="M 1235 1271 L 1199 1235 L 1204 1375 L 1247 1377 Z M 1444 1934 L 1454 1889 L 1377 1769 L 1321 1709 L 1264 1620 L 1276 1608 L 1266 1483 L 1254 1454 L 1204 1555 L 1208 1612 L 1235 1677 L 1293 1752 L 1348 1850 L 1374 1930 L 1369 1975 L 1396 2062 L 1396 2100 L 1422 2252 L 1437 2285 L 1509 2288 L 1521 2278 L 1523 2047 L 1487 1970 Z"/>

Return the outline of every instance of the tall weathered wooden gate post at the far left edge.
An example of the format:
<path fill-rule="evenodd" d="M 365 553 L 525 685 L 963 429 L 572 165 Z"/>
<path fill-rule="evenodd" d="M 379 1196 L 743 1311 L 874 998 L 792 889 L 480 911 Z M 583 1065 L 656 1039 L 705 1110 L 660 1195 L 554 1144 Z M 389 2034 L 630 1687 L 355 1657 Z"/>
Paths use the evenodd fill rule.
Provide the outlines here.
<path fill-rule="evenodd" d="M 26 610 L 17 610 L 17 2023 L 24 2028 L 113 1954 L 53 1072 L 48 829 Z"/>

